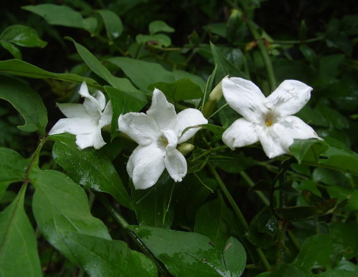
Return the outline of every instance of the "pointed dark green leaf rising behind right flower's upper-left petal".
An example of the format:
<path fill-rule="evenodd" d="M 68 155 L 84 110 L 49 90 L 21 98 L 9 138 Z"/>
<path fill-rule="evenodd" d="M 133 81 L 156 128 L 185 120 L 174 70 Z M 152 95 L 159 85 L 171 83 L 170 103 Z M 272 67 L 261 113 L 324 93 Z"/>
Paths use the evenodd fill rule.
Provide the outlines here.
<path fill-rule="evenodd" d="M 240 69 L 226 59 L 223 53 L 213 43 L 210 43 L 210 47 L 213 53 L 214 62 L 218 67 L 215 74 L 215 85 L 217 85 L 227 75 L 229 75 L 229 77 L 241 77 L 248 79 Z"/>

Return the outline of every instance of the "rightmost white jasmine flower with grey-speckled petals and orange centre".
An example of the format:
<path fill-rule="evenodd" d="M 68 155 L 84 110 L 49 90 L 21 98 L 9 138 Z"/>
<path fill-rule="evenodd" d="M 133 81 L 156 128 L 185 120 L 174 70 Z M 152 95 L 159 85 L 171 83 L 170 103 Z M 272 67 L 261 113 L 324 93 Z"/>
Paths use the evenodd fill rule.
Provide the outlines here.
<path fill-rule="evenodd" d="M 300 118 L 292 116 L 311 96 L 312 88 L 300 81 L 285 80 L 267 98 L 254 83 L 242 78 L 223 79 L 222 90 L 229 106 L 243 116 L 222 136 L 232 150 L 260 141 L 266 155 L 273 158 L 290 153 L 294 139 L 321 139 Z"/>

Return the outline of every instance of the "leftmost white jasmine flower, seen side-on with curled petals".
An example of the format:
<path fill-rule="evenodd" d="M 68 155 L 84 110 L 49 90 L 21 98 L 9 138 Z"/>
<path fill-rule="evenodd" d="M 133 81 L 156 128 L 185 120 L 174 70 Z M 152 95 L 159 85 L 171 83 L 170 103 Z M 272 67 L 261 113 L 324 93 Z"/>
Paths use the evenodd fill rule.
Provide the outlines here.
<path fill-rule="evenodd" d="M 76 135 L 76 144 L 79 149 L 83 150 L 89 146 L 100 149 L 106 144 L 101 135 L 101 128 L 111 124 L 112 120 L 111 101 L 108 101 L 106 105 L 106 98 L 101 91 L 96 91 L 93 95 L 89 94 L 84 81 L 78 93 L 85 97 L 83 104 L 56 103 L 68 118 L 60 119 L 48 134 L 67 132 Z"/>

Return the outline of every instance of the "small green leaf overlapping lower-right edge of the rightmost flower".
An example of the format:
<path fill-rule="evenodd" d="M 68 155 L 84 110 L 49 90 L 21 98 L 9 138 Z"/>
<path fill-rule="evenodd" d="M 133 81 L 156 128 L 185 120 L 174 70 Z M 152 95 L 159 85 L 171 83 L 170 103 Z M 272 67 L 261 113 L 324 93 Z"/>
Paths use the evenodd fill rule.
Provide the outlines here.
<path fill-rule="evenodd" d="M 328 144 L 322 140 L 310 138 L 309 140 L 294 140 L 290 150 L 299 164 L 302 161 L 319 161 L 319 155 L 328 149 Z"/>

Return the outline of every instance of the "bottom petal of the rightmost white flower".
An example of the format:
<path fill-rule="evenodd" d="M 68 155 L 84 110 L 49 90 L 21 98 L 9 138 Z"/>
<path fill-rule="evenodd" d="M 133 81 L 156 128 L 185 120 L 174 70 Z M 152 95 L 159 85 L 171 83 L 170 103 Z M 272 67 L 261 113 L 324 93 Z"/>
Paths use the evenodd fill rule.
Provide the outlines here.
<path fill-rule="evenodd" d="M 293 143 L 293 138 L 290 133 L 279 123 L 264 128 L 264 130 L 258 134 L 258 138 L 263 151 L 265 151 L 267 157 L 270 159 L 282 154 L 289 154 L 289 146 Z"/>

